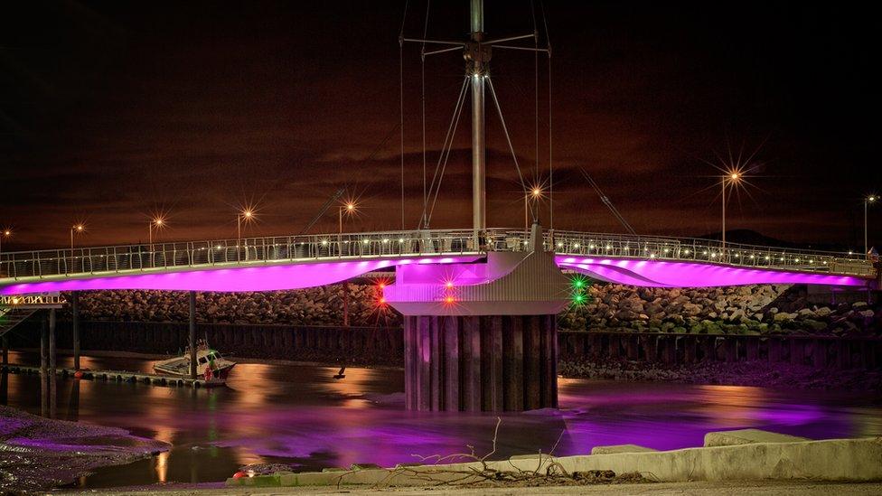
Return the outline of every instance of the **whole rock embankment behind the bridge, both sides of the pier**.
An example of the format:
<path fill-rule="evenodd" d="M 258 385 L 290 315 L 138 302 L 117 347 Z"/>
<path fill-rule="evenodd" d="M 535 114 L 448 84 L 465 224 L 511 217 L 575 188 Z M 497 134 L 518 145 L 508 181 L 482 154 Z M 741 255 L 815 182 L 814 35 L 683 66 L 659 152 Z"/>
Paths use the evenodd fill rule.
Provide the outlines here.
<path fill-rule="evenodd" d="M 813 333 L 877 335 L 882 307 L 864 302 L 812 304 L 805 286 L 746 285 L 712 288 L 648 288 L 596 284 L 589 301 L 560 314 L 570 331 L 680 332 L 705 334 Z M 356 326 L 400 326 L 380 304 L 377 285 L 349 285 L 349 320 Z M 199 293 L 197 319 L 204 323 L 339 325 L 342 285 L 265 293 Z M 187 296 L 161 291 L 94 291 L 80 296 L 84 320 L 186 322 Z M 68 317 L 70 317 L 68 315 Z"/>

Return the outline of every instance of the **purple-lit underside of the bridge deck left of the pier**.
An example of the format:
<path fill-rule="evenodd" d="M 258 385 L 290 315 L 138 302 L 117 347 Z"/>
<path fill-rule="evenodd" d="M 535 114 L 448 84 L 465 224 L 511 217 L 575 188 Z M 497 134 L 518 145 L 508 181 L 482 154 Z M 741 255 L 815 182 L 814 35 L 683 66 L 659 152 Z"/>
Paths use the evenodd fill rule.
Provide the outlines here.
<path fill-rule="evenodd" d="M 275 291 L 339 283 L 385 267 L 409 264 L 472 262 L 477 257 L 412 257 L 375 260 L 299 263 L 258 267 L 206 268 L 163 274 L 93 276 L 59 281 L 7 285 L 0 295 L 99 289 L 154 289 L 166 291 Z"/>

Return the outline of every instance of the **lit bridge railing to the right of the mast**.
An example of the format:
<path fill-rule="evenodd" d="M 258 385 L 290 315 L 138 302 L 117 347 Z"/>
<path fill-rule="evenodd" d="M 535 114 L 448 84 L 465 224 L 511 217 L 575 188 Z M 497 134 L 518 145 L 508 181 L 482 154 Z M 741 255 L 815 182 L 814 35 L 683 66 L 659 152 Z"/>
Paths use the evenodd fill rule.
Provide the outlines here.
<path fill-rule="evenodd" d="M 872 262 L 859 254 L 740 243 L 726 243 L 724 247 L 715 239 L 555 231 L 551 242 L 558 253 L 567 255 L 696 261 L 851 276 L 875 274 Z M 546 247 L 549 247 L 549 239 L 546 239 Z"/>

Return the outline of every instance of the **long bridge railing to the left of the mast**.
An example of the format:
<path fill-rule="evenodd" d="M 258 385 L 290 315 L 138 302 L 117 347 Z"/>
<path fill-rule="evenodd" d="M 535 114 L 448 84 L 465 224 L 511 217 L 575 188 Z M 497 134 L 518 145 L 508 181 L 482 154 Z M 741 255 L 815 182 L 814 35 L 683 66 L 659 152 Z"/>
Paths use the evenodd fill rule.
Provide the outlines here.
<path fill-rule="evenodd" d="M 260 262 L 478 253 L 472 230 L 409 230 L 267 238 L 218 239 L 90 247 L 0 255 L 0 277 L 129 273 L 175 267 Z"/>

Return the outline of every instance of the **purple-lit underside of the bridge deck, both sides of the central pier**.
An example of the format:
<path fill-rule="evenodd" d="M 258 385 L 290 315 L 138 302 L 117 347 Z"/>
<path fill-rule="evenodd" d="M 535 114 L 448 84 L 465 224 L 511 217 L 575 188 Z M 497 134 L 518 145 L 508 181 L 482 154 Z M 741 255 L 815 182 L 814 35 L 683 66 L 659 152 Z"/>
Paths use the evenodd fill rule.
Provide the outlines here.
<path fill-rule="evenodd" d="M 154 289 L 166 291 L 274 291 L 339 283 L 372 270 L 408 264 L 464 264 L 478 257 L 389 258 L 258 267 L 206 268 L 162 274 L 92 276 L 7 285 L 0 295 L 100 289 Z M 808 274 L 759 268 L 715 266 L 690 262 L 558 256 L 558 267 L 623 285 L 708 287 L 720 285 L 809 284 L 866 286 L 854 276 Z M 473 266 L 474 267 L 474 266 Z M 453 267 L 451 267 L 453 268 Z M 477 277 L 456 272 L 456 285 L 475 284 Z M 436 271 L 433 271 L 433 274 Z M 456 280 L 462 278 L 463 280 Z M 437 278 L 443 284 L 443 277 Z M 483 282 L 487 282 L 483 280 Z M 478 283 L 481 284 L 481 283 Z"/>

